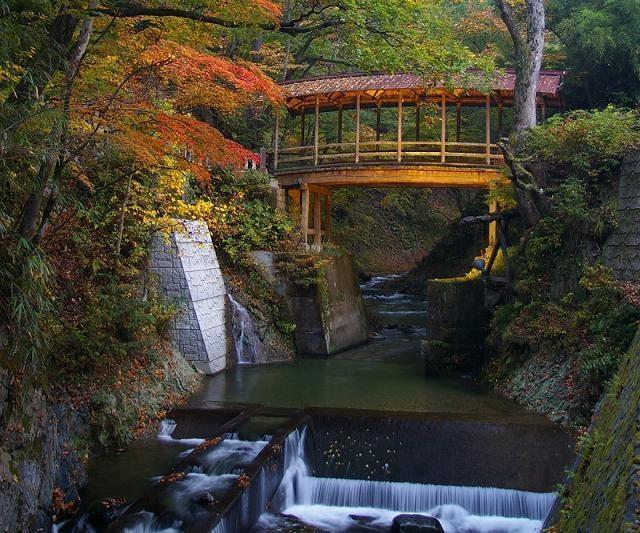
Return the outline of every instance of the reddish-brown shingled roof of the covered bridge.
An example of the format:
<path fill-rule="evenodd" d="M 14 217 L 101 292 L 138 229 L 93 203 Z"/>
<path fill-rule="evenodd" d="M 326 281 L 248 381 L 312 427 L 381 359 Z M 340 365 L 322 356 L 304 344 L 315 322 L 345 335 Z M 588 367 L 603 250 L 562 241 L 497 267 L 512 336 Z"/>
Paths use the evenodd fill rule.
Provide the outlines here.
<path fill-rule="evenodd" d="M 538 97 L 544 98 L 547 105 L 560 106 L 560 89 L 564 77 L 563 71 L 546 70 L 540 73 Z M 504 104 L 511 105 L 515 88 L 516 74 L 507 69 L 496 75 L 491 83 L 491 92 Z M 357 94 L 384 103 L 385 98 L 392 99 L 403 91 L 403 99 L 408 96 L 416 100 L 437 95 L 450 95 L 463 104 L 481 104 L 483 94 L 476 89 L 448 89 L 440 82 L 435 85 L 425 83 L 417 74 L 337 74 L 318 76 L 282 83 L 287 107 L 291 110 L 307 107 L 315 103 L 315 97 L 321 96 L 321 106 L 330 107 L 339 104 L 349 105 Z"/>

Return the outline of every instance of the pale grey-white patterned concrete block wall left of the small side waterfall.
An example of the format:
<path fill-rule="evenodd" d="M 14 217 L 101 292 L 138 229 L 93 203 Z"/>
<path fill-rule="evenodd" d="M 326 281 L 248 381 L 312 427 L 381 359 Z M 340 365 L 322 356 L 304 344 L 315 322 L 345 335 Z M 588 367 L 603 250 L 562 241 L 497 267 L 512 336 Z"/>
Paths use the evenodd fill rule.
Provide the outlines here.
<path fill-rule="evenodd" d="M 182 226 L 169 242 L 154 237 L 151 269 L 164 294 L 182 306 L 171 327 L 172 342 L 196 368 L 215 374 L 227 361 L 224 280 L 207 225 L 185 221 Z"/>

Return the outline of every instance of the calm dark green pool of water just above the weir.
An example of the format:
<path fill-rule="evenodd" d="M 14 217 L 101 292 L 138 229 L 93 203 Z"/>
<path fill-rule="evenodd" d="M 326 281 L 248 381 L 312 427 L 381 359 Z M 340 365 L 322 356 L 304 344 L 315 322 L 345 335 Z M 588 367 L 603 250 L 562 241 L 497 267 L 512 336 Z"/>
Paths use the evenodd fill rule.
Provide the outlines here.
<path fill-rule="evenodd" d="M 446 413 L 452 418 L 544 423 L 542 417 L 468 380 L 426 379 L 419 362 L 302 359 L 236 367 L 207 378 L 190 404 L 203 402 Z"/>

